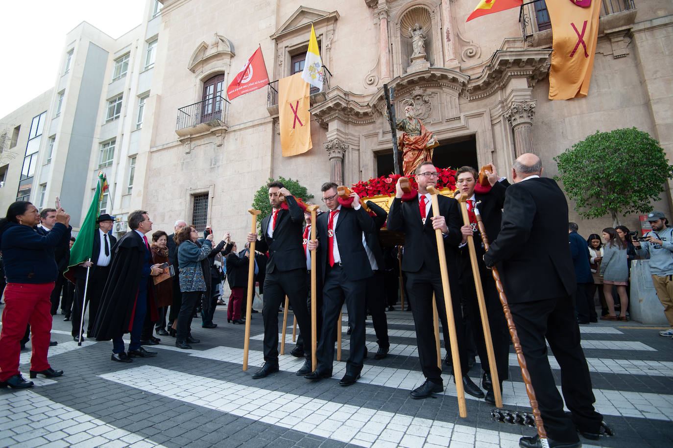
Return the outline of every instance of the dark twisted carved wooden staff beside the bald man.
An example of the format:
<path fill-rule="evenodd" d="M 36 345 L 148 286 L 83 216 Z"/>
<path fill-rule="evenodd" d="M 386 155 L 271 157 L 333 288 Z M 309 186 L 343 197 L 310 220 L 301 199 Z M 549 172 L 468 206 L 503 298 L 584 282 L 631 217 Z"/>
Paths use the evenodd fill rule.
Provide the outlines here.
<path fill-rule="evenodd" d="M 488 252 L 490 244 L 489 237 L 486 234 L 486 229 L 484 223 L 481 220 L 481 215 L 479 214 L 479 202 L 477 202 L 476 207 L 474 207 L 474 215 L 476 217 L 476 224 L 479 225 L 479 233 L 481 233 L 481 241 L 484 244 L 484 249 Z M 524 378 L 524 383 L 526 383 L 526 392 L 528 393 L 528 400 L 530 400 L 530 407 L 533 410 L 533 416 L 535 418 L 535 424 L 538 427 L 538 435 L 540 439 L 546 439 L 546 431 L 544 431 L 544 424 L 542 424 L 542 414 L 540 414 L 540 406 L 538 406 L 538 400 L 535 398 L 535 390 L 533 389 L 533 383 L 530 380 L 530 373 L 528 372 L 528 367 L 526 367 L 526 358 L 524 358 L 524 351 L 521 348 L 521 341 L 519 340 L 519 335 L 516 332 L 516 326 L 514 326 L 514 319 L 511 317 L 511 311 L 509 311 L 509 303 L 507 303 L 507 296 L 505 295 L 505 289 L 503 289 L 503 283 L 500 281 L 500 274 L 498 268 L 493 266 L 491 268 L 491 273 L 493 274 L 493 280 L 495 280 L 495 287 L 498 290 L 498 295 L 500 297 L 500 303 L 503 305 L 503 311 L 505 311 L 505 319 L 507 319 L 507 328 L 509 328 L 509 335 L 511 336 L 511 341 L 514 344 L 514 350 L 516 351 L 516 358 L 519 361 L 519 367 L 521 367 L 521 376 Z M 544 445 L 543 445 L 544 446 Z"/>

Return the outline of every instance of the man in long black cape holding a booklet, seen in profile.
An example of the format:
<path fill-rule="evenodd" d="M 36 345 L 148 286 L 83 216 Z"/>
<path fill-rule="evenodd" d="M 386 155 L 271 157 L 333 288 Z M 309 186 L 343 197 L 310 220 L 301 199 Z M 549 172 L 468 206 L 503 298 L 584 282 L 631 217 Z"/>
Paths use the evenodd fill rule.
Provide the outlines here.
<path fill-rule="evenodd" d="M 122 236 L 112 248 L 110 274 L 100 298 L 100 308 L 92 336 L 96 340 L 112 339 L 112 361 L 130 363 L 132 357 L 153 357 L 140 345 L 141 331 L 148 309 L 156 320 L 153 282 L 150 276 L 163 270 L 152 264 L 152 255 L 145 233 L 151 231 L 152 221 L 146 211 L 129 214 L 131 231 Z M 125 352 L 123 334 L 131 332 L 129 352 Z"/>

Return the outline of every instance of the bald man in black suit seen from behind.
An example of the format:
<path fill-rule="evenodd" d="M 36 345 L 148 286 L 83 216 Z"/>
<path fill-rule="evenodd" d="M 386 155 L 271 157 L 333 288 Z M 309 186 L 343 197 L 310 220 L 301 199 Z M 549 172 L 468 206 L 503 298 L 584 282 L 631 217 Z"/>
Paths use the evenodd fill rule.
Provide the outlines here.
<path fill-rule="evenodd" d="M 488 267 L 498 264 L 549 445 L 580 447 L 575 427 L 585 437 L 598 439 L 602 416 L 594 410 L 596 399 L 573 306 L 568 205 L 557 183 L 540 174 L 542 162 L 534 154 L 523 154 L 514 162 L 514 184 L 505 194 L 502 227 L 484 260 Z M 571 418 L 563 412 L 545 338 L 561 367 Z M 519 445 L 542 447 L 537 435 L 522 437 Z"/>

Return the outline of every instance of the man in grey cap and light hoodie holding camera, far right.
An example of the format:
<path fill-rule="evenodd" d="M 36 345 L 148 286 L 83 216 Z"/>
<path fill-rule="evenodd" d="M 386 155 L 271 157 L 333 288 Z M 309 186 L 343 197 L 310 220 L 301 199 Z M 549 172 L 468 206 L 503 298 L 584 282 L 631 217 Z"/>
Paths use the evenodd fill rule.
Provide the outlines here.
<path fill-rule="evenodd" d="M 657 290 L 659 301 L 664 305 L 664 314 L 671 326 L 659 332 L 662 336 L 673 337 L 673 227 L 666 227 L 666 217 L 659 210 L 647 215 L 652 231 L 647 233 L 647 241 L 633 241 L 641 258 L 649 258 L 649 272 Z"/>

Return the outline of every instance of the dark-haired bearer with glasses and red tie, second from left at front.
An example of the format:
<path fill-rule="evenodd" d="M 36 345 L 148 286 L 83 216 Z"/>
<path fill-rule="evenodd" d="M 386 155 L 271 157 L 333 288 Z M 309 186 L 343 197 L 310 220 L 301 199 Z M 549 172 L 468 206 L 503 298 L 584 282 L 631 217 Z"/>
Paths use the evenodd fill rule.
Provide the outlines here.
<path fill-rule="evenodd" d="M 316 350 L 318 365 L 306 378 L 319 381 L 332 376 L 336 326 L 341 326 L 339 313 L 346 301 L 351 322 L 351 349 L 346 362 L 346 375 L 339 381 L 351 385 L 360 377 L 365 358 L 365 289 L 371 277 L 371 265 L 363 246 L 363 232 L 376 231 L 374 219 L 352 192 L 352 207 L 343 207 L 336 194 L 334 182 L 322 185 L 322 201 L 329 213 L 323 213 L 316 223 L 318 239 L 309 241 L 308 250 L 318 248 L 318 262 L 322 266 L 322 331 Z M 320 242 L 320 244 L 319 244 Z M 305 333 L 306 334 L 306 333 Z"/>

